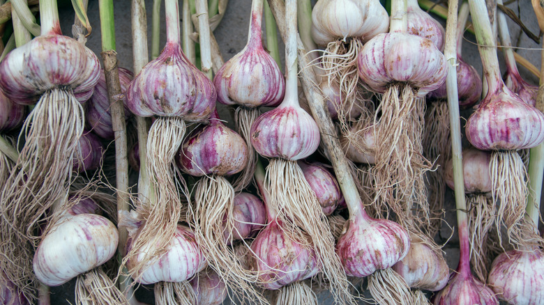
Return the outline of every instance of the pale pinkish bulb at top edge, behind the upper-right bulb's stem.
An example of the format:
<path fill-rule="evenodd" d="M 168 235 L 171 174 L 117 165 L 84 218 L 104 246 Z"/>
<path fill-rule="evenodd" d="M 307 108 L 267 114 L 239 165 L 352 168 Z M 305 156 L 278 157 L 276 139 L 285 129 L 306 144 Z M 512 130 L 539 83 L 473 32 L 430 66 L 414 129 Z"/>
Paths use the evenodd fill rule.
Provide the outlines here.
<path fill-rule="evenodd" d="M 444 50 L 444 43 L 446 42 L 444 39 L 446 38 L 444 26 L 419 8 L 417 0 L 408 1 L 407 19 L 407 33 L 427 38 L 431 40 L 440 51 Z"/>

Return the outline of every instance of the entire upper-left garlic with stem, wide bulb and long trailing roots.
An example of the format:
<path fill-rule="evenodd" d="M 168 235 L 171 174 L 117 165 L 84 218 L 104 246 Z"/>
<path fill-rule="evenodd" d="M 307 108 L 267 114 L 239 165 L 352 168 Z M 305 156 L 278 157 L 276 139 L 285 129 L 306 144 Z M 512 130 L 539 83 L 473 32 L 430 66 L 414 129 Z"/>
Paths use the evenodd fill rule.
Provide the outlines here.
<path fill-rule="evenodd" d="M 0 63 L 1 91 L 13 102 L 34 104 L 23 130 L 26 141 L 0 194 L 4 221 L 11 226 L 1 253 L 10 261 L 0 269 L 33 299 L 36 278 L 31 257 L 42 217 L 64 196 L 84 127 L 84 102 L 100 75 L 98 58 L 82 44 L 61 35 L 56 1 L 40 1 L 41 35 Z M 30 282 L 30 284 L 29 284 Z"/>

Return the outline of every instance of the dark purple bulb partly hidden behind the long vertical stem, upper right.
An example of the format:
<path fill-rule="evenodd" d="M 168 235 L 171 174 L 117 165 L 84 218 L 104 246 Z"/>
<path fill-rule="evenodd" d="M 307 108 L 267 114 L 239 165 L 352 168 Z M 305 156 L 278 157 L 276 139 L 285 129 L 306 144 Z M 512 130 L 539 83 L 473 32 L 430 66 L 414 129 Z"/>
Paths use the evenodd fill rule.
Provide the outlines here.
<path fill-rule="evenodd" d="M 459 97 L 459 107 L 465 109 L 472 107 L 482 94 L 482 79 L 476 69 L 457 58 L 457 91 Z M 442 84 L 437 90 L 427 95 L 432 99 L 446 99 L 446 83 Z"/>

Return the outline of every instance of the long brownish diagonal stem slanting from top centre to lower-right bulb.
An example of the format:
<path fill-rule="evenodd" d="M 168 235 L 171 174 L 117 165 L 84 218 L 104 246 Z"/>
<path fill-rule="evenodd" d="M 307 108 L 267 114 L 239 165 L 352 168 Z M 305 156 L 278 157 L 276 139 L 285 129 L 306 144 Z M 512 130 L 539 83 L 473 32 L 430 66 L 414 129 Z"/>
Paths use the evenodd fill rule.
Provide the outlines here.
<path fill-rule="evenodd" d="M 285 20 L 285 7 L 283 6 L 282 1 L 269 0 L 269 4 L 275 19 Z M 278 23 L 278 28 L 285 40 L 287 32 L 285 23 Z M 315 86 L 315 84 L 319 84 L 319 81 L 317 81 L 315 72 L 310 69 L 309 58 L 305 56 L 307 52 L 301 40 L 298 40 L 298 45 L 302 88 L 304 94 L 308 97 L 308 100 L 313 101 L 308 104 L 312 111 L 312 116 L 319 126 L 322 143 L 324 143 L 324 146 L 328 151 L 329 159 L 333 164 L 333 169 L 336 178 L 338 179 L 338 185 L 340 185 L 340 189 L 342 189 L 342 194 L 344 195 L 349 210 L 349 217 L 350 219 L 357 218 L 364 221 L 365 219 L 360 217 L 361 214 L 366 214 L 363 208 L 363 201 L 361 201 L 361 197 L 358 194 L 352 175 L 347 174 L 351 173 L 351 169 L 347 164 L 345 154 L 340 146 L 340 140 L 338 139 L 331 115 L 326 108 L 324 97 L 319 91 L 319 88 Z"/>

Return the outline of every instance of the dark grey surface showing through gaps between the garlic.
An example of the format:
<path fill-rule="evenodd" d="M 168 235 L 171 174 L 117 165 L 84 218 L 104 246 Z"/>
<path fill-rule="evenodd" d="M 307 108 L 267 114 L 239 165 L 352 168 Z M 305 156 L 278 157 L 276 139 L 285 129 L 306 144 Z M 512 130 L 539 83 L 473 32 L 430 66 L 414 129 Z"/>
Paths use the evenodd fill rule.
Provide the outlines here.
<path fill-rule="evenodd" d="M 519 3 L 519 6 L 518 4 Z M 249 12 L 250 12 L 250 0 L 230 0 L 229 6 L 225 13 L 225 17 L 222 20 L 220 26 L 215 31 L 218 44 L 220 45 L 220 50 L 222 56 L 225 58 L 225 61 L 238 53 L 245 45 L 248 32 L 249 24 Z M 151 35 L 151 6 L 152 1 L 146 0 L 146 8 L 148 9 L 148 33 Z M 538 33 L 538 24 L 536 22 L 536 17 L 532 11 L 529 1 L 515 1 L 509 5 L 510 8 L 517 12 L 520 9 L 520 15 L 522 20 L 529 27 L 533 33 Z M 116 39 L 117 39 L 117 52 L 119 53 L 120 65 L 126 68 L 133 67 L 133 51 L 132 51 L 132 38 L 130 36 L 130 1 L 129 0 L 118 0 L 114 3 L 115 9 L 115 22 L 116 22 Z M 93 49 L 97 54 L 100 53 L 100 24 L 98 19 L 98 1 L 91 0 L 89 3 L 89 19 L 93 25 L 93 33 L 89 37 L 87 45 Z M 73 23 L 73 13 L 70 12 L 70 8 L 64 8 L 61 11 L 61 24 L 63 33 L 65 35 L 70 35 L 71 33 L 71 24 Z M 513 36 L 513 42 L 519 39 L 519 45 L 522 46 L 517 52 L 522 54 L 536 65 L 537 68 L 540 68 L 540 52 L 539 46 L 535 42 L 529 40 L 527 36 L 521 35 L 518 31 L 519 27 L 509 22 L 511 35 Z M 149 36 L 150 37 L 150 36 Z M 165 41 L 165 26 L 162 26 L 161 31 L 161 47 L 164 45 Z M 151 52 L 151 48 L 150 48 Z M 464 60 L 471 63 L 476 67 L 478 71 L 481 71 L 480 58 L 477 53 L 476 48 L 476 39 L 474 36 L 467 33 L 465 35 L 465 41 L 463 44 L 463 57 Z M 501 54 L 499 53 L 499 61 L 503 65 Z M 283 68 L 283 67 L 282 67 Z M 520 68 L 522 75 L 527 79 L 527 81 L 532 84 L 537 84 L 538 79 L 531 75 L 524 68 Z M 470 111 L 464 111 L 462 116 L 468 118 Z M 453 203 L 453 196 L 451 191 L 448 191 L 446 196 L 447 206 L 446 206 L 446 219 L 445 221 L 449 226 L 455 227 L 455 204 Z M 451 229 L 444 225 L 442 232 L 443 237 L 449 237 L 451 235 Z M 445 240 L 444 240 L 445 241 Z M 458 237 L 456 233 L 453 234 L 448 244 L 445 247 L 446 260 L 448 265 L 455 269 L 458 263 Z M 149 288 L 150 289 L 150 288 Z M 140 288 L 138 291 L 138 297 L 142 298 L 143 302 L 151 303 L 153 299 L 151 298 L 151 290 L 147 287 Z M 61 288 L 54 288 L 52 295 L 54 302 L 52 304 L 68 304 L 64 301 L 66 298 L 71 298 L 71 293 L 73 291 L 73 286 L 71 284 L 66 284 Z M 330 295 L 322 293 L 319 295 L 320 304 L 331 304 Z M 228 304 L 229 302 L 226 302 Z M 362 303 L 361 303 L 362 304 Z"/>

